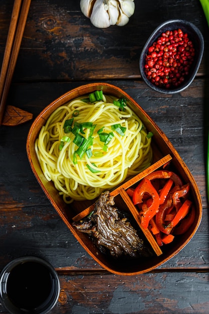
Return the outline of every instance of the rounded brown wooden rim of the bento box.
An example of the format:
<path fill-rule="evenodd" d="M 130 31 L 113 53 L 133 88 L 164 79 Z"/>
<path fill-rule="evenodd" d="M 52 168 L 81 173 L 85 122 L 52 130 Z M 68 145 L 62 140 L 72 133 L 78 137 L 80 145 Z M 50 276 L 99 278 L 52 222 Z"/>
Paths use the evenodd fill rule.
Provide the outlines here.
<path fill-rule="evenodd" d="M 104 92 L 108 92 L 111 94 L 114 94 L 113 92 L 115 92 L 115 95 L 123 95 L 123 97 L 127 97 L 128 100 L 130 100 L 140 111 L 141 113 L 144 115 L 144 117 L 154 126 L 154 128 L 156 129 L 156 131 L 158 132 L 158 134 L 163 138 L 163 140 L 165 141 L 165 143 L 168 145 L 169 149 L 172 151 L 173 155 L 175 155 L 175 158 L 177 160 L 179 160 L 182 164 L 182 168 L 184 170 L 184 172 L 186 173 L 186 176 L 189 178 L 190 182 L 192 182 L 192 186 L 193 189 L 195 190 L 195 195 L 196 195 L 196 199 L 197 199 L 197 203 L 199 206 L 199 216 L 198 216 L 198 221 L 196 223 L 196 226 L 191 234 L 190 237 L 188 237 L 186 239 L 186 241 L 184 241 L 182 243 L 182 245 L 180 245 L 172 254 L 171 256 L 169 255 L 167 258 L 164 258 L 162 261 L 159 261 L 158 263 L 156 263 L 154 266 L 151 266 L 149 268 L 146 268 L 144 270 L 140 270 L 140 271 L 134 271 L 134 272 L 120 272 L 117 270 L 113 270 L 111 269 L 109 266 L 105 265 L 99 258 L 97 258 L 97 256 L 95 254 L 93 254 L 91 252 L 91 250 L 85 245 L 85 243 L 80 239 L 80 237 L 78 236 L 78 234 L 75 232 L 74 228 L 71 226 L 71 224 L 69 223 L 69 221 L 66 219 L 66 217 L 64 216 L 63 212 L 60 210 L 60 208 L 58 207 L 58 205 L 56 204 L 56 202 L 54 201 L 54 199 L 52 199 L 51 195 L 48 193 L 47 189 L 45 188 L 40 176 L 38 175 L 34 163 L 33 163 L 33 156 L 32 156 L 32 147 L 31 147 L 31 139 L 32 138 L 36 138 L 39 134 L 39 131 L 41 129 L 41 126 L 43 125 L 42 123 L 40 123 L 40 119 L 43 119 L 45 122 L 47 120 L 47 118 L 50 116 L 50 114 L 56 110 L 56 108 L 58 108 L 59 106 L 67 103 L 68 101 L 70 101 L 73 98 L 79 97 L 81 95 L 84 94 L 88 94 L 91 91 L 95 91 L 96 89 L 102 89 Z M 110 91 L 111 90 L 111 91 Z M 43 115 L 45 117 L 43 117 Z M 38 126 L 38 127 L 37 127 Z M 37 128 L 36 128 L 37 127 Z M 36 129 L 35 132 L 35 136 L 34 136 L 34 129 Z M 35 120 L 33 121 L 29 133 L 28 133 L 28 137 L 27 137 L 27 143 L 26 143 L 26 150 L 27 150 L 27 155 L 28 155 L 28 159 L 29 159 L 29 163 L 30 166 L 32 168 L 32 171 L 37 179 L 37 181 L 39 182 L 41 188 L 43 189 L 44 193 L 46 194 L 46 196 L 48 197 L 48 199 L 50 200 L 50 202 L 52 203 L 53 207 L 56 209 L 56 211 L 58 212 L 59 216 L 62 218 L 62 220 L 65 222 L 65 224 L 67 225 L 67 227 L 70 229 L 70 231 L 72 232 L 72 234 L 75 236 L 75 238 L 78 240 L 78 242 L 83 246 L 83 248 L 87 251 L 87 253 L 94 258 L 94 260 L 96 262 L 98 262 L 99 265 L 101 265 L 104 269 L 108 270 L 111 273 L 115 273 L 115 274 L 119 274 L 119 275 L 137 275 L 137 274 L 141 274 L 141 273 L 145 273 L 148 272 L 152 269 L 155 269 L 156 267 L 164 264 L 167 260 L 169 260 L 170 258 L 174 257 L 193 237 L 193 235 L 195 234 L 196 230 L 199 227 L 199 224 L 201 222 L 201 217 L 202 217 L 202 205 L 201 205 L 201 197 L 197 188 L 197 185 L 192 177 L 192 175 L 190 174 L 187 166 L 184 164 L 184 162 L 181 160 L 179 154 L 177 153 L 177 151 L 175 150 L 175 148 L 173 147 L 173 145 L 171 144 L 171 142 L 169 141 L 169 139 L 166 137 L 166 135 L 161 131 L 161 129 L 155 124 L 155 122 L 149 117 L 149 115 L 143 110 L 143 108 L 141 108 L 141 106 L 130 96 L 128 95 L 125 91 L 123 91 L 121 88 L 109 84 L 109 83 L 103 83 L 103 82 L 99 82 L 99 83 L 89 83 L 89 84 L 85 84 L 85 85 L 81 85 L 79 87 L 73 88 L 70 91 L 64 93 L 63 95 L 61 95 L 60 97 L 58 97 L 57 99 L 55 99 L 54 101 L 52 101 L 48 106 L 46 106 L 45 109 L 43 109 L 41 111 L 41 113 L 35 118 Z M 36 157 L 35 157 L 36 159 Z M 44 176 L 44 175 L 43 175 Z"/>

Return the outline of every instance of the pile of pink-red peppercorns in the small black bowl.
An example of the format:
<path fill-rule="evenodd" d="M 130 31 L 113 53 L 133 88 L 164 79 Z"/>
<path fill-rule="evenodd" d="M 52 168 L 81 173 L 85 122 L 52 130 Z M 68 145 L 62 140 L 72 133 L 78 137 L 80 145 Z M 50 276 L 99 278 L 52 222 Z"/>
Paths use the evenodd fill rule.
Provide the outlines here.
<path fill-rule="evenodd" d="M 148 48 L 144 70 L 148 80 L 162 88 L 176 88 L 189 73 L 195 50 L 187 33 L 166 31 Z"/>

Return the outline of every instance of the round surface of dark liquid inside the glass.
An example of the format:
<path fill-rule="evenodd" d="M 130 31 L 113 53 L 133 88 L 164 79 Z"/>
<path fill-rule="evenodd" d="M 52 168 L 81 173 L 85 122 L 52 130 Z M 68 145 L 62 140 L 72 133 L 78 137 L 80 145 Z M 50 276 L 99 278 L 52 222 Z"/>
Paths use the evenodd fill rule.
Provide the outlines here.
<path fill-rule="evenodd" d="M 11 270 L 7 293 L 17 307 L 34 309 L 45 302 L 52 293 L 52 275 L 42 264 L 24 262 Z"/>

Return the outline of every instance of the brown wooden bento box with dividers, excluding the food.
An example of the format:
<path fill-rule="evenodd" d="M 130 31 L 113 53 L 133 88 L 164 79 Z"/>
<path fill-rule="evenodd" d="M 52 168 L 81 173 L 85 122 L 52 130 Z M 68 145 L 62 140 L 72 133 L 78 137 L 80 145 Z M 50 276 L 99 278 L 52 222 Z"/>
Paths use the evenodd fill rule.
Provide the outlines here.
<path fill-rule="evenodd" d="M 45 125 L 46 120 L 52 112 L 59 106 L 68 103 L 70 100 L 81 95 L 87 95 L 95 90 L 102 90 L 104 94 L 113 95 L 118 98 L 125 98 L 127 100 L 127 105 L 142 120 L 147 128 L 147 131 L 153 134 L 151 141 L 153 151 L 152 165 L 135 177 L 124 182 L 121 186 L 110 191 L 110 194 L 115 198 L 115 206 L 119 207 L 120 210 L 131 212 L 137 228 L 140 229 L 142 236 L 146 238 L 145 241 L 147 241 L 150 246 L 150 250 L 153 253 L 150 257 L 130 258 L 127 261 L 124 261 L 123 259 L 115 259 L 108 254 L 102 253 L 93 243 L 92 239 L 90 239 L 88 234 L 80 232 L 73 225 L 74 221 L 80 220 L 90 213 L 96 200 L 73 201 L 70 205 L 66 204 L 63 201 L 63 198 L 59 195 L 54 183 L 46 180 L 37 158 L 35 140 L 39 135 L 41 127 Z M 112 273 L 121 275 L 136 275 L 150 271 L 157 266 L 162 265 L 164 262 L 175 256 L 190 241 L 200 224 L 202 216 L 201 198 L 197 185 L 188 168 L 181 160 L 179 154 L 172 146 L 168 138 L 152 121 L 148 114 L 126 92 L 116 86 L 108 83 L 92 83 L 83 85 L 70 90 L 49 104 L 34 120 L 30 128 L 27 138 L 27 154 L 36 179 L 72 234 L 80 242 L 88 254 L 95 259 L 95 261 Z M 140 180 L 142 180 L 149 173 L 163 169 L 167 164 L 170 165 L 169 167 L 171 170 L 181 178 L 184 184 L 189 183 L 189 197 L 195 209 L 195 218 L 190 228 L 184 234 L 175 236 L 174 240 L 170 244 L 159 247 L 151 232 L 148 229 L 143 230 L 143 228 L 141 229 L 139 227 L 140 218 L 137 208 L 131 202 L 126 191 L 130 187 L 135 187 Z"/>

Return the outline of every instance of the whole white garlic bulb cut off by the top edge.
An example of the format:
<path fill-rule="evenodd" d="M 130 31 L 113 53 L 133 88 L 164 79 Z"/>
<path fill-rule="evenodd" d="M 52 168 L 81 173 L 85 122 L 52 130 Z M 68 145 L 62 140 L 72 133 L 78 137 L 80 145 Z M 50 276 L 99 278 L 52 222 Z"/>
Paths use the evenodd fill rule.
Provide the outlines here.
<path fill-rule="evenodd" d="M 134 0 L 81 0 L 82 13 L 98 28 L 123 26 L 135 10 Z"/>

